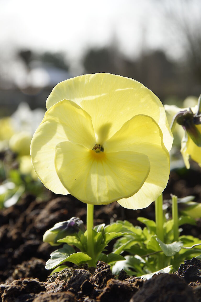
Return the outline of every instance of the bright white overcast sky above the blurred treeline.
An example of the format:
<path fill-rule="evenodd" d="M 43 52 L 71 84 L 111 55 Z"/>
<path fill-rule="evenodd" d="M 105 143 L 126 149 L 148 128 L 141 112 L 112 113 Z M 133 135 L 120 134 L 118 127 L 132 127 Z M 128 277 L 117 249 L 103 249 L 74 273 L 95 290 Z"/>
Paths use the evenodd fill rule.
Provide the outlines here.
<path fill-rule="evenodd" d="M 16 48 L 31 48 L 64 51 L 70 58 L 77 58 L 89 47 L 108 45 L 113 39 L 128 56 L 134 57 L 146 48 L 163 48 L 170 56 L 179 56 L 182 47 L 171 43 L 176 33 L 171 20 L 164 18 L 162 3 L 171 2 L 0 0 L 0 51 L 9 55 Z M 189 1 L 172 1 L 178 14 L 185 3 Z M 200 1 L 190 3 L 192 6 Z M 200 18 L 200 5 L 195 7 Z"/>

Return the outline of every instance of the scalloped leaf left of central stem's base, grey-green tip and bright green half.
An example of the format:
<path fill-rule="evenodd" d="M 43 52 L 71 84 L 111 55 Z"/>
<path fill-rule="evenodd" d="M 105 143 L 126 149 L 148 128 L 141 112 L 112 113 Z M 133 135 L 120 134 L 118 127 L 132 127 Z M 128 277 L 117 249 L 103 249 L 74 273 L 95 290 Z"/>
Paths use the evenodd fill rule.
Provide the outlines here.
<path fill-rule="evenodd" d="M 52 258 L 46 262 L 46 269 L 55 268 L 57 265 L 60 265 L 66 261 L 72 262 L 76 265 L 80 265 L 89 260 L 91 260 L 91 257 L 82 252 L 73 253 L 69 256 L 61 253 L 55 253 L 54 255 L 52 255 Z"/>

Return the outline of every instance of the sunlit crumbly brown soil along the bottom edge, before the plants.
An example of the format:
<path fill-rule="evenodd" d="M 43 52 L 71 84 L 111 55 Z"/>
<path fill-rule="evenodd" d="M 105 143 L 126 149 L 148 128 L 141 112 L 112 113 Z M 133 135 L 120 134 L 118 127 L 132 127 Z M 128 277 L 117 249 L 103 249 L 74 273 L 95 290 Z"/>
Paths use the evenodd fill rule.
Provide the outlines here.
<path fill-rule="evenodd" d="M 192 263 L 197 265 L 192 266 Z M 197 267 L 200 260 L 192 259 L 179 271 L 193 267 L 189 276 L 190 285 L 176 274 L 159 274 L 148 281 L 126 277 L 121 271 L 114 276 L 110 266 L 98 262 L 96 269 L 86 265 L 64 269 L 54 273 L 46 282 L 36 278 L 21 278 L 0 285 L 1 302 L 200 302 L 199 286 L 192 286 L 193 280 L 201 275 Z M 194 276 L 197 276 L 196 279 Z M 121 279 L 124 280 L 121 280 Z"/>

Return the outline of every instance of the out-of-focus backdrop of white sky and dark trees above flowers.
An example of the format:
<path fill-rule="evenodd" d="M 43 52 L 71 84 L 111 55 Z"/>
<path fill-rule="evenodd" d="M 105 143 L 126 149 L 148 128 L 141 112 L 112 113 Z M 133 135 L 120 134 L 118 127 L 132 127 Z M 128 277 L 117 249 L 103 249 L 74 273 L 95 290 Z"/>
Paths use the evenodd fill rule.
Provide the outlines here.
<path fill-rule="evenodd" d="M 164 103 L 201 93 L 199 0 L 1 0 L 0 117 L 45 108 L 52 88 L 84 73 L 143 83 Z"/>

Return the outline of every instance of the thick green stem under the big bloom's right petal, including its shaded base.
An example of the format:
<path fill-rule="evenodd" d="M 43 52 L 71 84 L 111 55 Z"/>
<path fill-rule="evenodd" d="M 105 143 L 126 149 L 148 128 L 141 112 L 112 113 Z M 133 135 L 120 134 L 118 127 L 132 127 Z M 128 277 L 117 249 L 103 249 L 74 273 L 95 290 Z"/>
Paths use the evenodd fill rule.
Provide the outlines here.
<path fill-rule="evenodd" d="M 155 222 L 156 222 L 156 236 L 164 242 L 164 233 L 163 233 L 163 194 L 161 194 L 155 200 Z M 159 253 L 157 268 L 164 268 L 164 254 Z"/>

